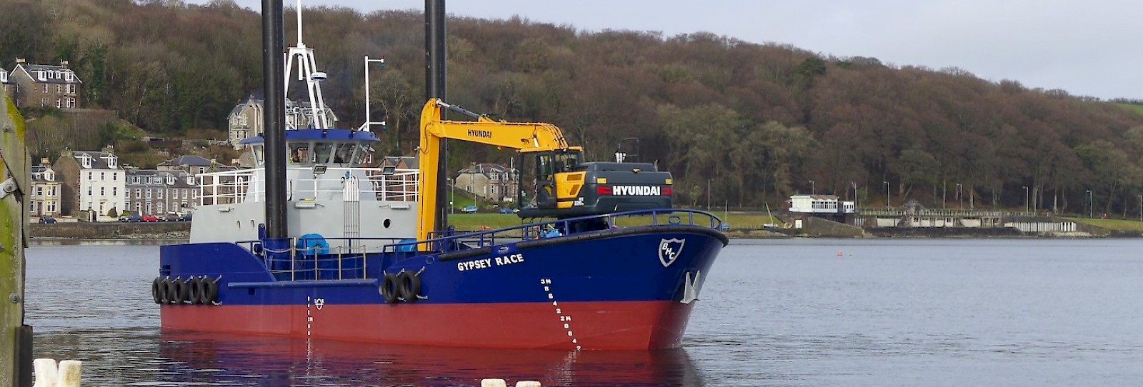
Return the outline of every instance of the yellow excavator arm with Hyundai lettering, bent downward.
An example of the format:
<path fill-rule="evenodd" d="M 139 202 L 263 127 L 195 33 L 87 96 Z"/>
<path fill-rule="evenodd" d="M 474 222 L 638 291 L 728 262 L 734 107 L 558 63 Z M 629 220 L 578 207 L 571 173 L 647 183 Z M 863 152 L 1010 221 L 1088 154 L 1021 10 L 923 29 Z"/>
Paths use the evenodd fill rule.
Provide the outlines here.
<path fill-rule="evenodd" d="M 467 115 L 475 121 L 448 121 L 441 119 L 443 110 Z M 438 178 L 437 167 L 441 162 L 438 150 L 443 138 L 466 140 L 478 144 L 514 148 L 518 152 L 542 152 L 558 150 L 581 150 L 570 147 L 560 128 L 541 122 L 494 121 L 458 106 L 433 98 L 421 111 L 421 178 L 417 182 L 419 205 L 417 217 L 417 240 L 429 239 L 437 221 Z"/>

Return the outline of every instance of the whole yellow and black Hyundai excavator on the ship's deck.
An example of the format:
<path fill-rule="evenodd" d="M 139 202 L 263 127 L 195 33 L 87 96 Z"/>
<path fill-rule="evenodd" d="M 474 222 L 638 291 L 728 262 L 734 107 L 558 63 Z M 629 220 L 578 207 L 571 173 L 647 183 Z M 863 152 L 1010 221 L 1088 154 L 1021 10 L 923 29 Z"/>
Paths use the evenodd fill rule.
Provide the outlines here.
<path fill-rule="evenodd" d="M 443 120 L 443 110 L 475 121 Z M 520 209 L 521 218 L 562 219 L 672 205 L 671 174 L 652 163 L 584 162 L 583 148 L 569 146 L 554 124 L 496 121 L 433 98 L 421 111 L 417 239 L 422 241 L 430 239 L 437 221 L 438 150 L 443 138 L 513 148 L 521 168 L 534 167 L 535 203 Z M 517 178 L 523 175 L 517 174 Z M 517 194 L 522 202 L 522 193 Z"/>

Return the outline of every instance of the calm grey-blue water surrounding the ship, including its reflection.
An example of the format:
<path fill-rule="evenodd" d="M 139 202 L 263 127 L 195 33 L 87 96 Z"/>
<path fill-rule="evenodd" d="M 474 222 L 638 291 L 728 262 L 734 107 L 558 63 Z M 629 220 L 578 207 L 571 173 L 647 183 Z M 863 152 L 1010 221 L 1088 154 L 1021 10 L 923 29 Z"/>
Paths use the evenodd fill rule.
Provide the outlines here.
<path fill-rule="evenodd" d="M 137 242 L 133 242 L 137 243 Z M 1143 240 L 736 240 L 681 349 L 482 350 L 160 333 L 157 245 L 27 251 L 35 356 L 83 386 L 1126 386 Z"/>

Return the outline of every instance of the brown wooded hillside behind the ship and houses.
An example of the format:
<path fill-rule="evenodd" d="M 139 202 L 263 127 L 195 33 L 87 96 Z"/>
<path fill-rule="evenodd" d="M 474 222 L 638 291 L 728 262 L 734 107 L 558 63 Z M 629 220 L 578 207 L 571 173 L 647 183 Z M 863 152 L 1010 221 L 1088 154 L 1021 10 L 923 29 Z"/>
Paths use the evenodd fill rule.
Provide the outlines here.
<path fill-rule="evenodd" d="M 234 104 L 262 87 L 261 17 L 229 0 L 0 0 L 0 65 L 69 59 L 85 106 L 154 134 L 225 128 Z M 385 56 L 371 72 L 374 106 L 389 114 L 382 153 L 408 154 L 416 138 L 423 22 L 418 11 L 306 9 L 305 41 L 343 126 L 363 121 L 362 56 Z M 290 46 L 290 11 L 286 25 Z M 638 137 L 640 160 L 674 174 L 682 204 L 703 207 L 708 184 L 714 207 L 732 208 L 777 207 L 812 190 L 879 207 L 888 188 L 894 205 L 956 208 L 962 197 L 966 208 L 1022 209 L 1028 197 L 1034 209 L 1086 215 L 1092 191 L 1095 213 L 1133 218 L 1143 201 L 1143 115 L 1128 103 L 705 33 L 585 33 L 518 18 L 450 18 L 448 55 L 450 103 L 555 123 L 597 160 Z M 450 153 L 456 168 L 506 161 L 480 146 Z"/>

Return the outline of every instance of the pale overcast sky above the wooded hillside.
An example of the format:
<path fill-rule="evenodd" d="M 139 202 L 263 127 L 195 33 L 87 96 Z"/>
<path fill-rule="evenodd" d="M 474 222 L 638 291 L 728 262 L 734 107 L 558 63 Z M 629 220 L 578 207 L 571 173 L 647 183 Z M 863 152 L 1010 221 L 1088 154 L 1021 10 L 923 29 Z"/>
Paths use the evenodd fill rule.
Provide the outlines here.
<path fill-rule="evenodd" d="M 237 1 L 255 10 L 262 5 Z M 424 9 L 424 0 L 303 0 L 303 7 L 319 5 Z M 661 31 L 668 37 L 706 31 L 898 66 L 956 66 L 990 81 L 1009 79 L 1072 95 L 1143 99 L 1143 1 L 449 0 L 446 6 L 454 15 L 517 15 L 581 31 Z"/>

